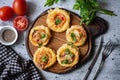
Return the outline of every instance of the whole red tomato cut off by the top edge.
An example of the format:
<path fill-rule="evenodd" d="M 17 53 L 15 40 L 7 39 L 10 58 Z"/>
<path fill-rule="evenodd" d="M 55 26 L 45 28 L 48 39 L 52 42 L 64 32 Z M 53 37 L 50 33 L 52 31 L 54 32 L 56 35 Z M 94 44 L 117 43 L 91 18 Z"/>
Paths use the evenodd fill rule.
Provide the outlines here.
<path fill-rule="evenodd" d="M 13 10 L 19 16 L 24 16 L 27 13 L 27 3 L 26 0 L 14 0 Z"/>

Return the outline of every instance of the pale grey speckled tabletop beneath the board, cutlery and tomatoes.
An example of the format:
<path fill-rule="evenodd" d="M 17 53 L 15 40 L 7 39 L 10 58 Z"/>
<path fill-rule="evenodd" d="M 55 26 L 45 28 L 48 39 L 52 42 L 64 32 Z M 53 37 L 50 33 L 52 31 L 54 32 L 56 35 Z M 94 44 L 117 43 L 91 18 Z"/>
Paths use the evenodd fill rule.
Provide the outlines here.
<path fill-rule="evenodd" d="M 5 5 L 12 5 L 13 0 L 1 0 L 0 7 Z M 40 13 L 49 7 L 44 7 L 45 0 L 27 0 L 28 2 L 28 15 L 30 22 L 32 22 Z M 51 7 L 62 7 L 72 10 L 72 5 L 75 0 L 61 0 L 57 5 Z M 104 43 L 109 39 L 114 42 L 114 45 L 118 45 L 116 49 L 112 52 L 109 58 L 106 60 L 105 65 L 99 74 L 97 80 L 120 80 L 120 0 L 99 0 L 101 6 L 106 9 L 113 10 L 118 16 L 108 16 L 103 14 L 98 14 L 98 16 L 104 18 L 109 23 L 109 30 L 104 34 Z M 73 10 L 74 11 L 74 10 Z M 78 11 L 74 11 L 79 13 Z M 13 20 L 13 19 L 12 19 Z M 3 22 L 0 21 L 0 25 L 11 25 L 12 20 Z M 24 35 L 24 36 L 23 36 Z M 18 41 L 12 46 L 14 50 L 25 59 L 30 59 L 25 48 L 25 37 L 26 32 L 20 32 Z M 95 40 L 95 45 L 93 49 L 96 50 L 99 42 L 99 37 Z M 41 71 L 41 74 L 45 77 L 45 80 L 82 80 L 87 72 L 92 59 L 89 59 L 82 67 L 75 69 L 67 74 L 54 74 L 50 72 Z M 96 69 L 101 60 L 101 55 L 89 76 L 88 80 L 92 80 L 95 75 Z"/>

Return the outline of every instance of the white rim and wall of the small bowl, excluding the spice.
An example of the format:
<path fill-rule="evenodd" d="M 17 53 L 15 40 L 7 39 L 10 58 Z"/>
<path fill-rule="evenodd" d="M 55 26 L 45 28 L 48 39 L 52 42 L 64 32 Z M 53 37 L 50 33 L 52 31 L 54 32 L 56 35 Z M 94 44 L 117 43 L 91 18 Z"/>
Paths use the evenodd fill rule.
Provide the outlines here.
<path fill-rule="evenodd" d="M 15 33 L 15 38 L 11 42 L 7 42 L 3 39 L 3 32 L 8 29 L 12 30 Z M 12 26 L 0 26 L 0 43 L 6 46 L 10 46 L 16 42 L 17 38 L 18 38 L 18 32 L 15 28 L 13 28 Z"/>

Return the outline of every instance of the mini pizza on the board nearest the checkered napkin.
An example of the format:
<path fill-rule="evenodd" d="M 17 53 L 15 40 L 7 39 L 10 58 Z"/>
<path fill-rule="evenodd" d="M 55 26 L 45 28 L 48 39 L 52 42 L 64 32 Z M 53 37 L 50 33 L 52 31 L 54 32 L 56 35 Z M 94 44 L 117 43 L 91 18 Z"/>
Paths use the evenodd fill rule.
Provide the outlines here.
<path fill-rule="evenodd" d="M 55 52 L 47 47 L 38 48 L 33 56 L 33 62 L 39 69 L 49 68 L 56 62 Z"/>

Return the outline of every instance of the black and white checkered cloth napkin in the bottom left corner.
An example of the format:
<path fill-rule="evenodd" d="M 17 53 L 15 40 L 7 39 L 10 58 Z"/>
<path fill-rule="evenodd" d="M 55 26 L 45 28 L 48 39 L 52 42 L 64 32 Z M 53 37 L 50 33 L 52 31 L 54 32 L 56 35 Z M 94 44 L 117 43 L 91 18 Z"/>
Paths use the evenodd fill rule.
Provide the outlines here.
<path fill-rule="evenodd" d="M 0 80 L 42 80 L 31 60 L 23 60 L 13 49 L 0 43 Z"/>

